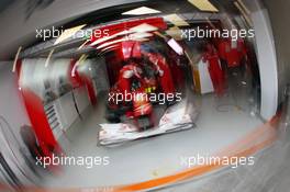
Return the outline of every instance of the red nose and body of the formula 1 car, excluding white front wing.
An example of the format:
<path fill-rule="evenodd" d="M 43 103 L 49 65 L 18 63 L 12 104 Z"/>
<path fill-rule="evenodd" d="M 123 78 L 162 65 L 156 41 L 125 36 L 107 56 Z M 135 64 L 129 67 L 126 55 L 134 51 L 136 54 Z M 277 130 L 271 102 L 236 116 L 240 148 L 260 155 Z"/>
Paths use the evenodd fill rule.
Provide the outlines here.
<path fill-rule="evenodd" d="M 155 79 L 144 77 L 138 65 L 131 63 L 124 66 L 119 75 L 119 81 L 111 89 L 110 95 L 115 95 L 108 103 L 107 120 L 120 123 L 121 117 L 134 120 L 140 129 L 153 126 L 153 104 L 148 100 L 148 90 L 156 87 Z"/>

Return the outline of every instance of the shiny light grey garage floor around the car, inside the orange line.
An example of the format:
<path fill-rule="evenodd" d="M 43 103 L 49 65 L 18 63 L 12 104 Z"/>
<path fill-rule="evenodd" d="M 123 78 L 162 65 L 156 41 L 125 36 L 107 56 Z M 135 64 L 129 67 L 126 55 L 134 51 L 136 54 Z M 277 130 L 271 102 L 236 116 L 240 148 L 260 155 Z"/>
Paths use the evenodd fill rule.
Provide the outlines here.
<path fill-rule="evenodd" d="M 49 176 L 43 183 L 54 189 L 120 185 L 182 171 L 187 169 L 181 163 L 182 157 L 215 154 L 263 124 L 261 120 L 242 108 L 243 103 L 237 103 L 242 100 L 234 98 L 232 94 L 222 99 L 214 94 L 202 98 L 196 95 L 194 101 L 200 110 L 196 128 L 134 140 L 113 148 L 97 146 L 98 124 L 105 122 L 104 105 L 89 109 L 83 120 L 76 122 L 67 133 L 70 140 L 67 155 L 108 156 L 110 165 L 91 169 L 65 167 L 58 177 Z"/>

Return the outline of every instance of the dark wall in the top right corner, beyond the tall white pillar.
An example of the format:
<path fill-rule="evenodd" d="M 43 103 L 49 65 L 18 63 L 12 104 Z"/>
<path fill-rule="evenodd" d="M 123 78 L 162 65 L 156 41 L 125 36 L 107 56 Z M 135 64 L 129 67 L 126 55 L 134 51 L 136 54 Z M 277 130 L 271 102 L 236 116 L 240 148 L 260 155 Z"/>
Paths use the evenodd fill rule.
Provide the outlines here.
<path fill-rule="evenodd" d="M 272 26 L 278 61 L 279 101 L 285 86 L 290 82 L 290 1 L 264 0 Z"/>

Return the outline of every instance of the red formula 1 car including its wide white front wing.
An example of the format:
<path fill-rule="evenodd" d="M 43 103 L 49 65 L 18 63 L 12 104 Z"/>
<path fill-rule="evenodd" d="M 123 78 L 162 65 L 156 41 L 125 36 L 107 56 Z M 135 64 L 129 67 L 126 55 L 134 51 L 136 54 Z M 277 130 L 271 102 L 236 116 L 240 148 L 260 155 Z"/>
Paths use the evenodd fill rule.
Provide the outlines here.
<path fill-rule="evenodd" d="M 156 82 L 156 78 L 146 76 L 137 64 L 131 63 L 122 68 L 119 82 L 110 92 L 122 97 L 108 104 L 107 120 L 110 123 L 100 124 L 100 145 L 114 146 L 127 140 L 194 127 L 193 121 L 198 113 L 193 103 L 187 99 L 166 105 L 160 118 L 153 120 L 156 117 L 153 115 L 155 106 L 148 95 L 150 91 L 161 90 Z"/>

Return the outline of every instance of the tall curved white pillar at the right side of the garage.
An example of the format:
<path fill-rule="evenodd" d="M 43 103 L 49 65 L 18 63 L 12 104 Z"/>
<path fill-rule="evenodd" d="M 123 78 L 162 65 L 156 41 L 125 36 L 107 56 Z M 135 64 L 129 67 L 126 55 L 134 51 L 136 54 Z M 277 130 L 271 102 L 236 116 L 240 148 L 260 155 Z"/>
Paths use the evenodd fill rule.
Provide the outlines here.
<path fill-rule="evenodd" d="M 278 71 L 276 48 L 267 11 L 252 13 L 256 33 L 256 50 L 260 72 L 261 106 L 260 114 L 265 120 L 271 118 L 278 108 Z"/>

